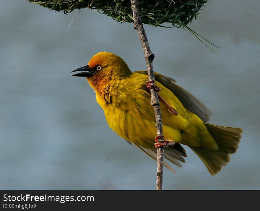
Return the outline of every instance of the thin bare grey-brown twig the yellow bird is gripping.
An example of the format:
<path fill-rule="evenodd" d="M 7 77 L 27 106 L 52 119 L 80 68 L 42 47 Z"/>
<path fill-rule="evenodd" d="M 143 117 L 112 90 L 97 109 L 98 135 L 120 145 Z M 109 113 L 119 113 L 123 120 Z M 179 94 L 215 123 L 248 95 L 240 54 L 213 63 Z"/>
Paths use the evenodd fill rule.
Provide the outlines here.
<path fill-rule="evenodd" d="M 131 7 L 133 10 L 133 16 L 134 16 L 134 29 L 137 30 L 137 33 L 139 35 L 139 38 L 142 43 L 142 47 L 144 50 L 144 57 L 146 61 L 147 66 L 147 72 L 148 72 L 148 78 L 149 81 L 155 81 L 153 67 L 152 67 L 152 61 L 154 59 L 154 54 L 152 53 L 148 39 L 146 37 L 143 23 L 140 17 L 140 10 L 138 6 L 138 0 L 130 0 L 131 1 Z M 152 84 L 155 85 L 154 82 Z M 163 138 L 163 124 L 162 124 L 162 114 L 161 114 L 161 106 L 160 102 L 157 96 L 157 91 L 155 89 L 151 89 L 151 105 L 153 106 L 153 109 L 155 111 L 155 121 L 156 121 L 156 129 L 157 129 L 157 136 L 160 136 L 158 138 L 159 141 L 164 140 Z M 157 180 L 156 180 L 156 190 L 162 190 L 163 189 L 163 148 L 157 148 Z"/>

